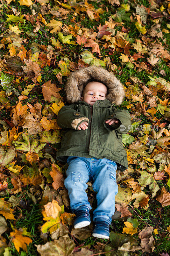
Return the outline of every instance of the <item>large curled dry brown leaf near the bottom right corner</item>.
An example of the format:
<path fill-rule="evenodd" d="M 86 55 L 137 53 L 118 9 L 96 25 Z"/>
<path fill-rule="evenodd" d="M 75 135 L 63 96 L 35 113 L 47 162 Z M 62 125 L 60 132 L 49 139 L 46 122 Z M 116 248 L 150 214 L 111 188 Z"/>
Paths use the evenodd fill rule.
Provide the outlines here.
<path fill-rule="evenodd" d="M 153 227 L 145 227 L 142 231 L 139 231 L 139 238 L 141 239 L 140 246 L 142 247 L 142 251 L 145 252 L 153 252 L 155 249 L 155 241 L 152 236 Z"/>

